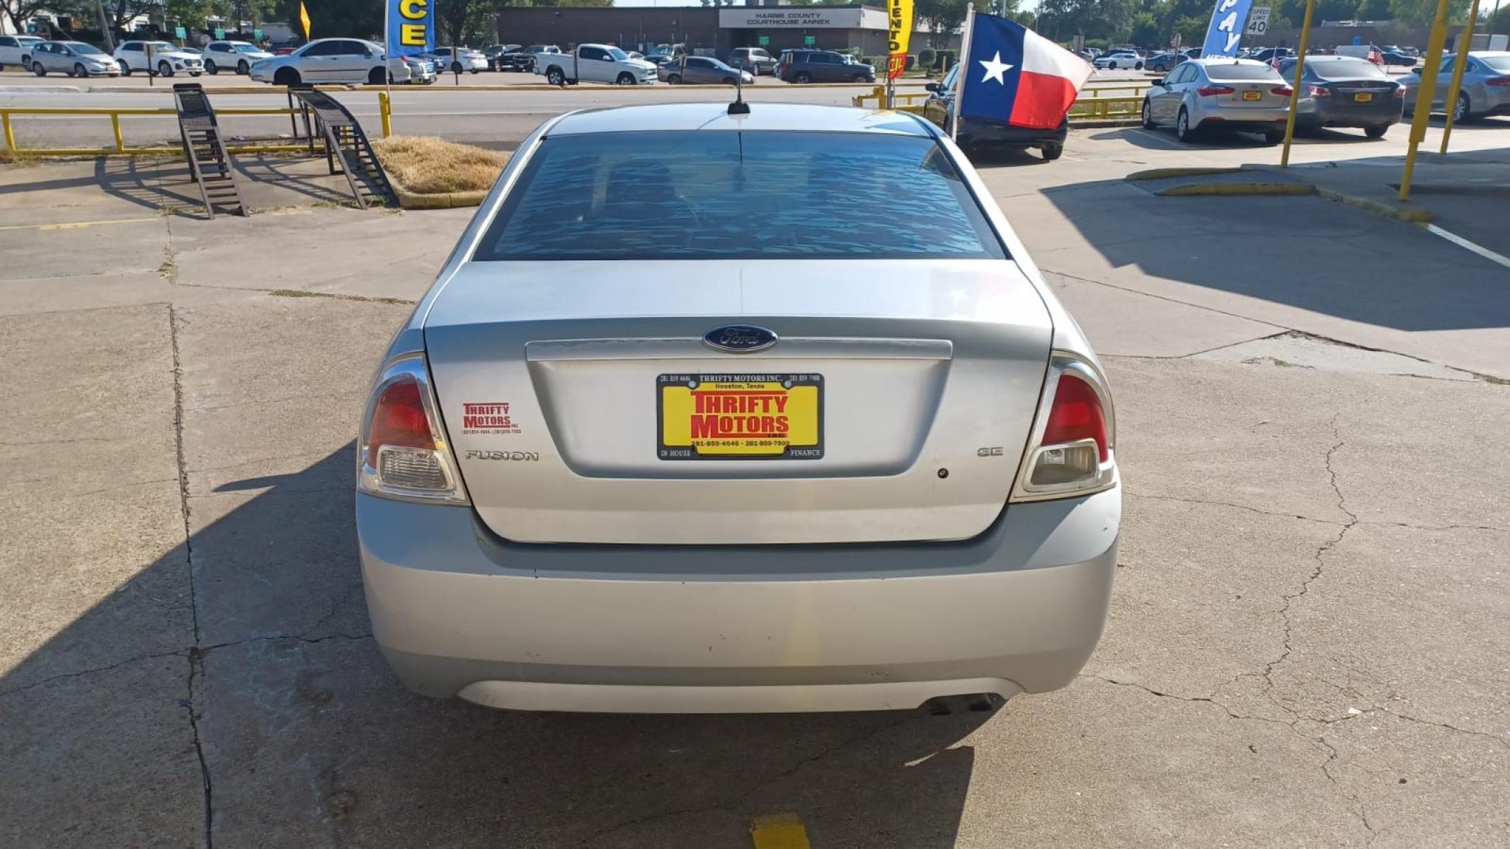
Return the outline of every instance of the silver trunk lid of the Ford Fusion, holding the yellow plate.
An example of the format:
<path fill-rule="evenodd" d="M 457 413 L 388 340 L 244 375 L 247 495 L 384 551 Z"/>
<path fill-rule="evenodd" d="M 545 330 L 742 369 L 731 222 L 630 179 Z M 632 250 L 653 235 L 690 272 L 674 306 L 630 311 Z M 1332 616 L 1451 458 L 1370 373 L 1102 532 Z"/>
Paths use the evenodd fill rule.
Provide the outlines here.
<path fill-rule="evenodd" d="M 781 339 L 713 350 L 726 324 Z M 426 347 L 506 538 L 840 543 L 991 526 L 1051 330 L 1010 261 L 471 262 Z"/>

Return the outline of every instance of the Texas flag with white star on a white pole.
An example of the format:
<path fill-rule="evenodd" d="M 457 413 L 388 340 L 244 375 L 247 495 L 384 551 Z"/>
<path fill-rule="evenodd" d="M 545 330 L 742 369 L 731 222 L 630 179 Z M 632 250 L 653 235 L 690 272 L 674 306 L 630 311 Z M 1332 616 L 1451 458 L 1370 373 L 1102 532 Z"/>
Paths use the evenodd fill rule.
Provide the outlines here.
<path fill-rule="evenodd" d="M 997 15 L 969 24 L 959 113 L 1013 127 L 1054 130 L 1090 78 L 1090 63 Z"/>

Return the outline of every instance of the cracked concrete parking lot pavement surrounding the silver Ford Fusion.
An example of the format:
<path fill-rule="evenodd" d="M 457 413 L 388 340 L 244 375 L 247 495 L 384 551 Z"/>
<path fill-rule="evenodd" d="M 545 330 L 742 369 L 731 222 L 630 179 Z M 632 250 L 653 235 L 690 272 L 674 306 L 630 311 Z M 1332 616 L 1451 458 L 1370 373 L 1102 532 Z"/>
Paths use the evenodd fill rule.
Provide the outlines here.
<path fill-rule="evenodd" d="M 1403 133 L 1333 136 L 1297 161 L 1395 167 Z M 1105 359 L 1126 498 L 1084 674 L 951 716 L 405 692 L 352 440 L 471 211 L 211 222 L 165 214 L 181 166 L 0 166 L 0 844 L 743 847 L 773 814 L 817 847 L 1510 843 L 1510 270 L 1125 179 L 1259 158 L 1102 128 L 983 163 Z"/>

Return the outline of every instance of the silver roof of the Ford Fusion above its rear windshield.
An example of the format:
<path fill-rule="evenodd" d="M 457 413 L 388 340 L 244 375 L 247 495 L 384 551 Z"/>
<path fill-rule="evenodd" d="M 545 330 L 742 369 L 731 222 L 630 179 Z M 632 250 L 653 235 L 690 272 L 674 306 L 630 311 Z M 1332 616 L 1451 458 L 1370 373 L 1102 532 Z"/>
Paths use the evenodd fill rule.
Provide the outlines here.
<path fill-rule="evenodd" d="M 663 103 L 592 109 L 562 116 L 547 134 L 684 133 L 695 130 L 935 134 L 932 124 L 900 112 L 796 103 L 750 104 L 749 115 L 729 115 L 728 103 Z"/>

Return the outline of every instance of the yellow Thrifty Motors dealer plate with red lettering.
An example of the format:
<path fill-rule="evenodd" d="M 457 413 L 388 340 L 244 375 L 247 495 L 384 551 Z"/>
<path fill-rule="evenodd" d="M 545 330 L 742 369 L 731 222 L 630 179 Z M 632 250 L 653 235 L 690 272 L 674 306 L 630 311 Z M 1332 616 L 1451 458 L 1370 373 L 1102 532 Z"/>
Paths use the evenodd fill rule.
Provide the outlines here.
<path fill-rule="evenodd" d="M 661 460 L 823 457 L 821 374 L 661 374 Z"/>

